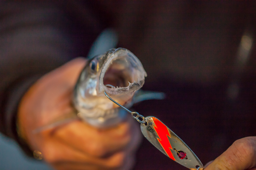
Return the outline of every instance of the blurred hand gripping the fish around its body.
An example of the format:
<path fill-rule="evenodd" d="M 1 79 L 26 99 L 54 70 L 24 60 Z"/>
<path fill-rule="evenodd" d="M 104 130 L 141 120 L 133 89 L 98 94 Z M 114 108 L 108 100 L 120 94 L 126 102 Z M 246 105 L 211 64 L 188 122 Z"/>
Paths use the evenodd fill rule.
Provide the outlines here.
<path fill-rule="evenodd" d="M 72 112 L 72 92 L 85 63 L 83 58 L 72 60 L 44 75 L 27 91 L 18 109 L 21 135 L 31 150 L 40 151 L 55 169 L 131 169 L 141 135 L 138 123 L 130 116 L 108 129 L 74 120 L 32 133 Z"/>

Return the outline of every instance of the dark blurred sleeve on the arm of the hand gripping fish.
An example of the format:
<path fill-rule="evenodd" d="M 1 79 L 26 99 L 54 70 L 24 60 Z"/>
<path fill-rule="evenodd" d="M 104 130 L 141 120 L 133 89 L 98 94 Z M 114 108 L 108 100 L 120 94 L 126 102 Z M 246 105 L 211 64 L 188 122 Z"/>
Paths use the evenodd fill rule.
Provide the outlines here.
<path fill-rule="evenodd" d="M 35 81 L 88 53 L 102 28 L 83 5 L 81 16 L 77 4 L 0 2 L 0 131 L 4 135 L 18 140 L 18 103 Z M 88 16 L 95 21 L 93 26 L 86 22 Z"/>

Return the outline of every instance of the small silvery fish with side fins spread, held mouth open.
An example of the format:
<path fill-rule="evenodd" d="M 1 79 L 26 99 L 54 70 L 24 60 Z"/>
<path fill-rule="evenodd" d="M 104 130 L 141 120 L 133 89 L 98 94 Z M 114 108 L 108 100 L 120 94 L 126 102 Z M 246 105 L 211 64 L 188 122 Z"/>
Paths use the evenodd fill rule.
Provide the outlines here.
<path fill-rule="evenodd" d="M 54 128 L 74 119 L 97 128 L 114 126 L 123 121 L 127 112 L 110 101 L 130 108 L 134 103 L 150 99 L 164 99 L 162 92 L 141 90 L 147 73 L 140 60 L 128 49 L 113 48 L 91 58 L 82 69 L 73 90 L 74 113 L 51 121 L 34 133 Z"/>

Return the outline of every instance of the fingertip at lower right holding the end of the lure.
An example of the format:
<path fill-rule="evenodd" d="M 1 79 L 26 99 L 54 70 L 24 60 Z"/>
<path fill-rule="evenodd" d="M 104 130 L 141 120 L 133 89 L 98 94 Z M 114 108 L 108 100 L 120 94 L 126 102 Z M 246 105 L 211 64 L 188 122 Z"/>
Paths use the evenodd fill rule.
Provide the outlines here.
<path fill-rule="evenodd" d="M 256 170 L 256 137 L 236 140 L 205 170 Z"/>

